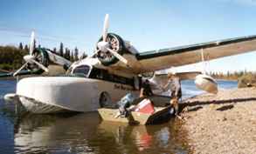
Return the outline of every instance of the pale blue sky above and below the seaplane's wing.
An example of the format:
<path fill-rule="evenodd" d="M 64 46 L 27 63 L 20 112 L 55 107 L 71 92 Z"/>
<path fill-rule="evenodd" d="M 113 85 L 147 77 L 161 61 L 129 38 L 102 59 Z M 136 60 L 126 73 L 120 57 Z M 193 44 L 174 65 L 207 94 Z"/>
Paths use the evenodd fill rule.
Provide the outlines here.
<path fill-rule="evenodd" d="M 0 44 L 28 43 L 31 30 L 35 30 L 42 46 L 59 48 L 63 42 L 91 55 L 106 13 L 109 31 L 140 51 L 256 34 L 253 0 L 3 0 Z M 254 57 L 256 52 L 213 60 L 207 69 L 256 70 Z"/>

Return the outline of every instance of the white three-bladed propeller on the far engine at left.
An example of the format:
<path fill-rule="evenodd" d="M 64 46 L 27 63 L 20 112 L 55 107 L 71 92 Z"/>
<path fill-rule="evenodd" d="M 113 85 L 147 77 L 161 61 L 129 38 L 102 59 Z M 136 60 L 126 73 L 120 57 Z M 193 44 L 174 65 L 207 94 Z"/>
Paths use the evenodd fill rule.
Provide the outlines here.
<path fill-rule="evenodd" d="M 24 56 L 24 61 L 26 62 L 24 65 L 22 65 L 18 70 L 16 70 L 14 73 L 13 73 L 13 77 L 15 77 L 18 72 L 20 72 L 21 70 L 24 69 L 24 67 L 27 65 L 27 64 L 37 64 L 39 68 L 41 68 L 42 70 L 45 70 L 46 72 L 48 72 L 49 70 L 43 65 L 43 64 L 40 64 L 38 63 L 35 59 L 36 57 L 33 55 L 33 50 L 35 50 L 35 32 L 32 31 L 31 32 L 31 44 L 30 44 L 30 54 L 29 55 L 26 55 Z"/>

